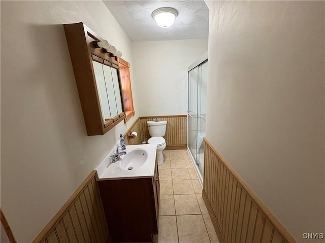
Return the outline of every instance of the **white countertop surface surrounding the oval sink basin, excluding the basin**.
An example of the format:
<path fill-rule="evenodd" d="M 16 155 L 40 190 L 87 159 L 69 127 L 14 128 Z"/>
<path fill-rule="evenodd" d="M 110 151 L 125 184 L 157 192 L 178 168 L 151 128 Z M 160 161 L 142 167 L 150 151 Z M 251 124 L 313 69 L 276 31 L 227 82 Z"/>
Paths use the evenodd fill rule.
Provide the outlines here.
<path fill-rule="evenodd" d="M 144 149 L 148 156 L 145 163 L 139 168 L 133 170 L 123 170 L 121 161 L 117 160 L 115 163 L 111 162 L 109 153 L 99 164 L 96 170 L 96 180 L 119 180 L 119 179 L 134 179 L 134 178 L 147 178 L 152 177 L 154 174 L 155 163 L 156 163 L 156 144 L 139 144 L 139 145 L 126 145 L 126 155 L 135 149 Z M 112 150 L 115 152 L 116 147 Z M 125 155 L 122 155 L 123 159 Z"/>

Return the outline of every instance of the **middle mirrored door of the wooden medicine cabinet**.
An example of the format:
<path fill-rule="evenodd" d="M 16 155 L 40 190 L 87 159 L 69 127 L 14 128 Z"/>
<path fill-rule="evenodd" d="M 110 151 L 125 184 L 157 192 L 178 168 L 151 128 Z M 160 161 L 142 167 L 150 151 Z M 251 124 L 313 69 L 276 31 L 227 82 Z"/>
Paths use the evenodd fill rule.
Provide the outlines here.
<path fill-rule="evenodd" d="M 117 116 L 118 113 L 117 113 L 115 90 L 114 90 L 111 69 L 112 69 L 111 67 L 103 65 L 105 84 L 106 84 L 106 92 L 107 92 L 107 96 L 108 96 L 108 102 L 110 104 L 111 117 L 113 118 L 113 117 Z"/>

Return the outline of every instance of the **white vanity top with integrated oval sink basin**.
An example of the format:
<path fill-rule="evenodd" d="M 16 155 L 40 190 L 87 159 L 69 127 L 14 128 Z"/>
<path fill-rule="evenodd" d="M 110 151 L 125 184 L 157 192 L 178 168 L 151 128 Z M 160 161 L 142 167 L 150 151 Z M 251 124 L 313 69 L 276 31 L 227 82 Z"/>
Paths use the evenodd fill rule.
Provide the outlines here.
<path fill-rule="evenodd" d="M 112 151 L 115 152 L 116 148 Z M 97 180 L 146 178 L 154 174 L 156 162 L 155 144 L 127 145 L 126 154 L 115 163 L 108 154 L 96 168 Z"/>

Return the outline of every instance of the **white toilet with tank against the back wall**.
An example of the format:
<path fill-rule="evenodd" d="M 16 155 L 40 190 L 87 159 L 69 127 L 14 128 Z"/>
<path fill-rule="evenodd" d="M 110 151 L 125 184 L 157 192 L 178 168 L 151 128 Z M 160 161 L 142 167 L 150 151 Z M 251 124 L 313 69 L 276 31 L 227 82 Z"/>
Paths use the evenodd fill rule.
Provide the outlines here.
<path fill-rule="evenodd" d="M 166 133 L 167 120 L 147 121 L 151 138 L 148 139 L 149 144 L 157 144 L 157 163 L 158 166 L 164 163 L 163 150 L 166 148 L 166 141 L 163 136 Z"/>

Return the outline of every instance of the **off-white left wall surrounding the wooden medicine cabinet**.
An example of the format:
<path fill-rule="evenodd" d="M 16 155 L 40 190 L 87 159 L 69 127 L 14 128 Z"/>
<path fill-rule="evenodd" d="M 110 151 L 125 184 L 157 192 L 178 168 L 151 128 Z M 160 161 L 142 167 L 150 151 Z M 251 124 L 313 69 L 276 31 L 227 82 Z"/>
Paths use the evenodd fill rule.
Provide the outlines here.
<path fill-rule="evenodd" d="M 1 208 L 18 242 L 36 237 L 136 118 L 87 136 L 62 25 L 80 21 L 122 52 L 134 83 L 131 42 L 102 1 L 1 1 Z"/>

